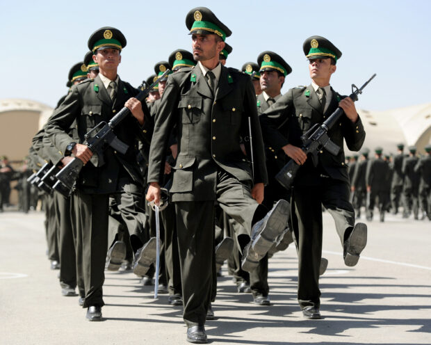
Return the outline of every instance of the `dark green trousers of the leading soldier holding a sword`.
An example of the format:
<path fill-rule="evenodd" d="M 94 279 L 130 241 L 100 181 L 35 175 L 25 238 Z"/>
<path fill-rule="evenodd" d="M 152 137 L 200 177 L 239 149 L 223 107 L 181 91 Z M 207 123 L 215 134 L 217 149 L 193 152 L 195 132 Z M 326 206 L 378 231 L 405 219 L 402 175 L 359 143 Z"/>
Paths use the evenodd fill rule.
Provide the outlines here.
<path fill-rule="evenodd" d="M 251 196 L 250 187 L 219 169 L 215 193 L 222 210 L 243 225 L 243 233 L 237 234 L 238 241 L 250 241 L 252 220 L 259 206 Z M 184 299 L 183 317 L 188 327 L 204 325 L 211 302 L 213 280 L 216 279 L 214 200 L 174 204 Z M 247 235 L 244 240 L 243 235 Z"/>

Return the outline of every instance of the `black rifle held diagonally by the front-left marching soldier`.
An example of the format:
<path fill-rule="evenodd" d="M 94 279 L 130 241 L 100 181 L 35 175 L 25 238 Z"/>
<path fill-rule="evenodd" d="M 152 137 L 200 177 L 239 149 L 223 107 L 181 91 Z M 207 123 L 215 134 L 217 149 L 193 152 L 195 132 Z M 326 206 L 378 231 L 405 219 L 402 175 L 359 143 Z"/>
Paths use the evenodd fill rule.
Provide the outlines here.
<path fill-rule="evenodd" d="M 158 81 L 164 78 L 169 71 L 170 70 L 166 70 L 161 75 L 161 77 L 148 86 L 148 88 L 141 90 L 138 95 L 135 96 L 135 98 L 140 102 L 143 102 L 148 96 L 149 91 L 152 90 L 152 88 L 158 84 Z M 100 122 L 95 128 L 88 131 L 88 133 L 84 136 L 86 138 L 86 142 L 84 144 L 88 145 L 88 148 L 91 152 L 93 152 L 93 154 L 97 154 L 99 166 L 103 165 L 104 163 L 103 153 L 108 146 L 113 147 L 114 150 L 121 152 L 122 154 L 125 154 L 129 149 L 129 145 L 126 145 L 120 141 L 117 136 L 115 136 L 113 128 L 117 126 L 122 120 L 124 120 L 124 118 L 126 118 L 130 113 L 130 110 L 124 106 L 123 109 L 121 109 L 108 123 L 104 121 Z M 83 161 L 76 157 L 67 163 L 67 165 L 57 173 L 56 178 L 58 179 L 58 182 L 54 184 L 54 189 L 56 191 L 60 191 L 60 193 L 62 191 L 64 193 L 65 188 L 67 188 L 67 190 L 70 192 L 76 179 L 78 179 L 79 172 L 81 171 L 83 165 Z"/>

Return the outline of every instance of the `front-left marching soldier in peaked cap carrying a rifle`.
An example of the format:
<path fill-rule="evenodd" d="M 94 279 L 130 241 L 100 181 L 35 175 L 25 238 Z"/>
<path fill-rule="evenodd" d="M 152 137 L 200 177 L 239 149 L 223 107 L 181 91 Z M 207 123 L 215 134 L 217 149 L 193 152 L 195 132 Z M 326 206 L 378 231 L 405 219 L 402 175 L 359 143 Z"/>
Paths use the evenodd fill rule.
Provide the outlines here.
<path fill-rule="evenodd" d="M 101 28 L 90 36 L 88 48 L 93 51 L 93 59 L 99 65 L 99 75 L 86 79 L 67 95 L 61 106 L 47 123 L 46 134 L 58 151 L 65 156 L 73 154 L 81 159 L 82 168 L 76 182 L 74 212 L 76 228 L 83 243 L 83 274 L 85 300 L 83 307 L 88 308 L 86 317 L 90 321 L 101 320 L 101 307 L 104 305 L 102 285 L 106 248 L 108 246 L 108 198 L 116 195 L 124 207 L 133 207 L 130 222 L 136 224 L 131 234 L 131 246 L 137 250 L 145 239 L 142 237 L 140 220 L 136 204 L 131 204 L 130 193 L 138 195 L 142 191 L 142 177 L 136 161 L 136 138 L 148 141 L 152 134 L 153 122 L 147 106 L 136 99 L 138 90 L 117 75 L 121 61 L 121 50 L 126 45 L 126 38 L 112 27 Z M 129 145 L 125 154 L 116 152 L 112 147 L 104 151 L 104 164 L 100 158 L 84 144 L 84 135 L 101 121 L 108 121 L 124 106 L 130 109 L 129 118 L 125 118 L 114 131 L 117 137 Z M 144 115 L 145 114 L 145 115 Z M 67 129 L 76 121 L 79 142 L 67 135 Z M 124 193 L 127 191 L 129 193 Z M 124 197 L 124 200 L 123 200 Z M 133 197 L 134 198 L 134 197 Z M 126 200 L 127 199 L 127 200 Z M 136 217 L 134 217 L 136 216 Z M 129 231 L 132 227 L 128 227 Z M 136 265 L 144 264 L 147 249 L 155 251 L 155 241 L 136 252 Z"/>

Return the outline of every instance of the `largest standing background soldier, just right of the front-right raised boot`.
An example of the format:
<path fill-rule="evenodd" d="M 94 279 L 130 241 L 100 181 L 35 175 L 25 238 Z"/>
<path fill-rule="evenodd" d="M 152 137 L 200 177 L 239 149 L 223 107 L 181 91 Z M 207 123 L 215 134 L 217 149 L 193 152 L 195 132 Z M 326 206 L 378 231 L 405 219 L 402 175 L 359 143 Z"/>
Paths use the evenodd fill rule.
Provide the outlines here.
<path fill-rule="evenodd" d="M 377 208 L 380 213 L 380 221 L 384 222 L 384 212 L 387 209 L 387 194 L 389 191 L 389 186 L 387 184 L 387 179 L 389 177 L 389 164 L 382 158 L 382 147 L 375 148 L 375 158 L 372 159 L 368 166 L 366 167 L 366 191 L 368 195 L 367 204 L 367 219 L 373 220 L 373 211 L 375 200 L 378 200 Z"/>

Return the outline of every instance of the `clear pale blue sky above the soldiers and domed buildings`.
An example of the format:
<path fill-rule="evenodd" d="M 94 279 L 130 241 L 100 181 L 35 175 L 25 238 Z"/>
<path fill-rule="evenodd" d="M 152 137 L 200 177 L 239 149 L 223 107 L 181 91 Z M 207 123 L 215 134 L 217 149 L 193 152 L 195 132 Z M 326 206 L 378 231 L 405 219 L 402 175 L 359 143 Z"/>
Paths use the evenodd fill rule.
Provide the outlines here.
<path fill-rule="evenodd" d="M 188 10 L 211 8 L 232 31 L 228 67 L 241 68 L 266 50 L 293 68 L 282 92 L 310 83 L 302 43 L 311 35 L 342 52 L 331 84 L 351 93 L 377 77 L 357 107 L 389 110 L 431 102 L 431 1 L 3 1 L 0 5 L 0 99 L 55 106 L 67 93 L 70 67 L 83 60 L 91 33 L 114 26 L 127 38 L 120 77 L 138 86 L 174 49 L 191 50 Z"/>

